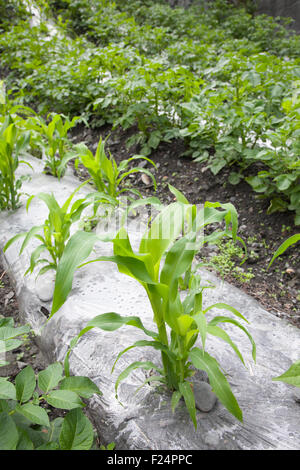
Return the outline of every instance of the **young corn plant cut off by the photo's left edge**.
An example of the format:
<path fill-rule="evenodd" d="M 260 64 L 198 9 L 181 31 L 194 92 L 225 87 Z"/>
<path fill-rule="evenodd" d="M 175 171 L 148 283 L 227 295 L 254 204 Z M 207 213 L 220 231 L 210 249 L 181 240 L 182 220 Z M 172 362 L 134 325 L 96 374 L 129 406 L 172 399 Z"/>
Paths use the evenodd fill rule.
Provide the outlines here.
<path fill-rule="evenodd" d="M 30 132 L 21 133 L 13 119 L 7 116 L 0 128 L 0 209 L 15 210 L 20 199 L 23 178 L 16 178 L 15 172 L 20 163 L 30 167 L 24 160 L 19 160 L 30 142 Z"/>

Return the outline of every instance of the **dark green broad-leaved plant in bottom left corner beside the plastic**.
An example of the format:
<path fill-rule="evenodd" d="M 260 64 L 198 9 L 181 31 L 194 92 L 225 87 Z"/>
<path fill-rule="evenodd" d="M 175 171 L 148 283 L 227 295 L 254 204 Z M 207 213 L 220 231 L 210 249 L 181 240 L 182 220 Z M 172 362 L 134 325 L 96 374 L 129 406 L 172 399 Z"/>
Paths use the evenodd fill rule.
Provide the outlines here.
<path fill-rule="evenodd" d="M 15 327 L 12 318 L 0 319 L 0 351 L 18 348 L 16 337 L 30 327 Z M 6 365 L 1 363 L 0 366 Z M 102 395 L 88 378 L 64 377 L 59 362 L 49 365 L 37 375 L 28 365 L 12 381 L 0 377 L 0 449 L 1 450 L 89 450 L 94 443 L 91 422 L 82 412 L 81 398 Z M 64 418 L 50 420 L 47 409 L 68 410 Z"/>

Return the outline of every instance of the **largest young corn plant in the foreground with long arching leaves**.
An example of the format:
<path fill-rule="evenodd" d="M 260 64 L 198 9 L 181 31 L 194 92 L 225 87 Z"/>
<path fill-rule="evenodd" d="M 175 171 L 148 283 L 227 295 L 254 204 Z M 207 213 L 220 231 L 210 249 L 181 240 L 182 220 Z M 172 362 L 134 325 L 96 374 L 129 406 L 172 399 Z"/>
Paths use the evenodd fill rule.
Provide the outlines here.
<path fill-rule="evenodd" d="M 187 218 L 193 220 L 192 229 L 180 237 L 182 227 Z M 212 309 L 227 310 L 234 317 L 247 321 L 235 308 L 226 303 L 216 303 L 204 308 L 202 303 L 204 287 L 200 284 L 197 275 L 190 282 L 190 289 L 185 299 L 182 299 L 179 280 L 190 268 L 195 254 L 204 243 L 199 237 L 203 228 L 210 223 L 225 221 L 223 232 L 236 237 L 237 214 L 231 204 L 206 202 L 204 208 L 197 211 L 196 206 L 175 202 L 163 209 L 153 220 L 142 237 L 139 250 L 135 253 L 131 247 L 128 234 L 122 227 L 113 239 L 114 254 L 102 256 L 89 261 L 112 261 L 124 273 L 139 282 L 146 291 L 150 301 L 156 331 L 150 331 L 143 325 L 138 316 L 121 316 L 115 312 L 98 315 L 72 341 L 66 357 L 65 369 L 68 374 L 69 354 L 79 338 L 92 328 L 101 328 L 114 331 L 123 325 L 130 325 L 144 331 L 149 340 L 137 341 L 121 351 L 115 361 L 135 347 L 153 347 L 161 352 L 162 366 L 150 361 L 132 363 L 119 375 L 118 386 L 133 370 L 143 368 L 154 369 L 156 375 L 151 381 L 165 385 L 172 391 L 172 409 L 175 410 L 179 400 L 183 397 L 188 412 L 197 427 L 196 407 L 193 386 L 190 382 L 196 369 L 205 370 L 209 376 L 213 391 L 223 405 L 237 419 L 242 420 L 242 411 L 233 395 L 225 375 L 221 372 L 217 360 L 205 351 L 206 340 L 209 335 L 217 336 L 226 341 L 237 354 L 242 363 L 243 357 L 231 340 L 230 336 L 219 325 L 230 323 L 240 328 L 252 344 L 252 356 L 255 360 L 255 343 L 248 330 L 236 319 L 219 315 L 211 320 L 207 317 Z M 230 230 L 231 228 L 231 230 Z M 66 300 L 71 288 L 75 269 L 91 252 L 97 240 L 95 234 L 78 232 L 71 237 L 57 269 L 56 284 L 53 297 L 51 315 L 55 314 Z M 81 253 L 78 247 L 81 248 Z M 202 347 L 195 346 L 201 338 Z M 113 368 L 115 367 L 115 364 Z M 146 382 L 148 382 L 147 379 Z"/>

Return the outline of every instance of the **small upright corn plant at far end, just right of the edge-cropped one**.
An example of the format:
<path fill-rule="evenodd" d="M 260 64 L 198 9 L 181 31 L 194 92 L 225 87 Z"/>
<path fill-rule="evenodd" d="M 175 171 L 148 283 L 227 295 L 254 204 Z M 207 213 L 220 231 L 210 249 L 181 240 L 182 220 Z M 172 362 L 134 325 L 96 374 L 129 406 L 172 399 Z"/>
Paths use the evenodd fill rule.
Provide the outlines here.
<path fill-rule="evenodd" d="M 27 126 L 42 138 L 41 145 L 46 155 L 45 171 L 60 179 L 66 171 L 68 161 L 74 158 L 69 153 L 70 143 L 67 135 L 79 117 L 74 117 L 72 121 L 62 114 L 51 113 L 49 117 L 52 118 L 49 124 L 38 116 L 29 119 Z"/>

